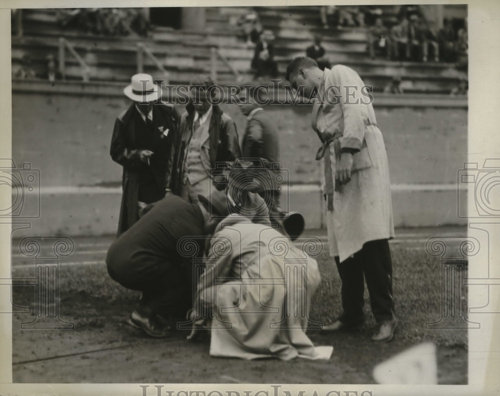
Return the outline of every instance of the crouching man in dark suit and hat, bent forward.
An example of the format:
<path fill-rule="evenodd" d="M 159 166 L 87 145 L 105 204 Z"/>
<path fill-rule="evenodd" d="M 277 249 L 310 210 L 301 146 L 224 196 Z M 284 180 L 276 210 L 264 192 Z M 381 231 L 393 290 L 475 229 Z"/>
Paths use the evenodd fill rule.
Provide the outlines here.
<path fill-rule="evenodd" d="M 185 236 L 212 233 L 228 214 L 226 207 L 225 194 L 215 189 L 209 198 L 199 195 L 194 204 L 168 194 L 114 240 L 106 255 L 109 276 L 142 292 L 128 324 L 152 337 L 165 337 L 169 328 L 165 318 L 185 315 L 192 306 L 193 271 L 177 242 Z M 203 251 L 203 245 L 198 251 Z"/>

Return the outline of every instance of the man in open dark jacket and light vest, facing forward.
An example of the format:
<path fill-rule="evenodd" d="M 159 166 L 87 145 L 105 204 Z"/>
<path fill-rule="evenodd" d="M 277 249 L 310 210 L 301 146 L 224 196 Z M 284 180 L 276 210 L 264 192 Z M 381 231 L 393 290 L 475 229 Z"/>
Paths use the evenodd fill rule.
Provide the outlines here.
<path fill-rule="evenodd" d="M 214 85 L 208 75 L 196 76 L 191 81 L 186 112 L 180 118 L 170 188 L 191 203 L 197 202 L 198 194 L 224 188 L 217 175 L 241 156 L 234 121 L 212 104 L 217 92 Z"/>

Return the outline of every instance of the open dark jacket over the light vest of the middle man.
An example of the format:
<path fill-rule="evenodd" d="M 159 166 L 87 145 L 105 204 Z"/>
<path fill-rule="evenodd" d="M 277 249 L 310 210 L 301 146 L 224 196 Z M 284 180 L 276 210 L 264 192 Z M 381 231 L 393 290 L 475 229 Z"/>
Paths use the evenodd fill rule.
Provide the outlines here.
<path fill-rule="evenodd" d="M 175 140 L 175 151 L 171 158 L 173 168 L 171 177 L 167 180 L 169 188 L 175 194 L 180 194 L 183 183 L 184 162 L 186 150 L 192 136 L 192 122 L 194 106 L 189 102 L 186 112 L 182 114 L 179 123 L 179 132 Z M 212 105 L 212 114 L 208 126 L 208 139 L 201 144 L 200 157 L 207 173 L 212 177 L 221 173 L 225 162 L 233 162 L 241 156 L 238 134 L 234 121 L 217 105 Z M 224 184 L 214 182 L 215 187 L 224 188 Z"/>

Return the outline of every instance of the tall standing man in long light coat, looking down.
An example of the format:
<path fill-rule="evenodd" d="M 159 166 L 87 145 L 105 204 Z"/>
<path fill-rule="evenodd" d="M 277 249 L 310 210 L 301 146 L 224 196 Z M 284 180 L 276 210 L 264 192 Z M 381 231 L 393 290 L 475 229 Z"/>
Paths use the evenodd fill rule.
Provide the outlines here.
<path fill-rule="evenodd" d="M 351 68 L 337 64 L 322 71 L 308 57 L 295 58 L 286 79 L 301 95 L 315 96 L 312 127 L 322 143 L 316 159 L 324 158 L 329 248 L 342 281 L 343 308 L 323 330 L 363 322 L 364 274 L 380 325 L 372 339 L 390 340 L 397 324 L 388 245 L 394 225 L 387 154 L 371 95 Z"/>

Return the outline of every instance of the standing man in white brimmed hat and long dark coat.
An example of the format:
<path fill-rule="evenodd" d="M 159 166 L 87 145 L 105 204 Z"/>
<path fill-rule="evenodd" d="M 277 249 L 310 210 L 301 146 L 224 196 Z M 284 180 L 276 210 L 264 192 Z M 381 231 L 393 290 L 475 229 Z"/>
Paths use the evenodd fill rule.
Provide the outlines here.
<path fill-rule="evenodd" d="M 134 74 L 123 93 L 133 102 L 114 122 L 110 154 L 123 167 L 118 235 L 139 218 L 140 210 L 165 196 L 172 169 L 178 114 L 158 101 L 149 74 Z"/>

